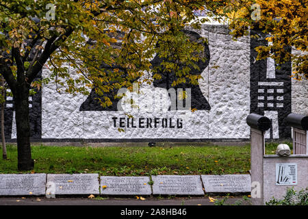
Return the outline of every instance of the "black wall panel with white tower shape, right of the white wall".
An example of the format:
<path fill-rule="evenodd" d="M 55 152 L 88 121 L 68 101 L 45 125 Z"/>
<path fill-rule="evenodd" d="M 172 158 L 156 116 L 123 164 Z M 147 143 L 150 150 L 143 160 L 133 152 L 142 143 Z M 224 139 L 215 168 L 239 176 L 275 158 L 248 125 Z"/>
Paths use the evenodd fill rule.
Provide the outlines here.
<path fill-rule="evenodd" d="M 291 129 L 283 122 L 291 113 L 291 62 L 277 68 L 271 58 L 256 60 L 255 47 L 267 46 L 267 34 L 251 30 L 251 113 L 267 116 L 272 127 L 267 138 L 290 138 Z M 291 48 L 288 48 L 291 50 Z"/>

